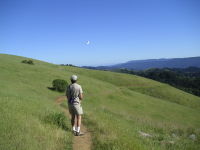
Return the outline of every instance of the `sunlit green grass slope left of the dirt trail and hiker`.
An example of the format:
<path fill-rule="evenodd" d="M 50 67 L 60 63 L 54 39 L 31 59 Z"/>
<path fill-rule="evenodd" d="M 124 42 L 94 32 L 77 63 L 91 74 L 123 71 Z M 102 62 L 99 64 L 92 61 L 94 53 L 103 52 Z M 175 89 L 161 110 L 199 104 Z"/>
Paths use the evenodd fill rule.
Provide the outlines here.
<path fill-rule="evenodd" d="M 71 132 L 45 122 L 61 113 L 54 102 L 60 93 L 47 87 L 62 76 L 55 65 L 24 59 L 0 54 L 0 150 L 71 149 Z"/>

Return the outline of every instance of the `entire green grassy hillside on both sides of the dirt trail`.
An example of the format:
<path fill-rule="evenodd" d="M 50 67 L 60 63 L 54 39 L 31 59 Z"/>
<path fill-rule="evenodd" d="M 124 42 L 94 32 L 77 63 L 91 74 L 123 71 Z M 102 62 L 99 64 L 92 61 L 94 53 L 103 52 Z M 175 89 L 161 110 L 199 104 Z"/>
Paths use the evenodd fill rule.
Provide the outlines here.
<path fill-rule="evenodd" d="M 199 97 L 138 76 L 24 59 L 0 55 L 0 149 L 71 149 L 69 118 L 67 129 L 45 120 L 61 113 L 54 98 L 63 95 L 47 87 L 72 74 L 84 90 L 93 149 L 200 149 Z"/>

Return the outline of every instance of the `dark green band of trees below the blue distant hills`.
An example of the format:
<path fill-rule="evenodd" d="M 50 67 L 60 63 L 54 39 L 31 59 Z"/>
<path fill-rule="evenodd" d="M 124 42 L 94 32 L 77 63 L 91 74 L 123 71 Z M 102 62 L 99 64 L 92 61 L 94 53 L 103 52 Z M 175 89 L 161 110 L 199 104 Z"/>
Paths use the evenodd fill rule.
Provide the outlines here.
<path fill-rule="evenodd" d="M 124 69 L 113 70 L 115 72 L 139 75 L 159 82 L 170 84 L 188 93 L 200 96 L 200 68 L 151 68 L 143 71 Z"/>

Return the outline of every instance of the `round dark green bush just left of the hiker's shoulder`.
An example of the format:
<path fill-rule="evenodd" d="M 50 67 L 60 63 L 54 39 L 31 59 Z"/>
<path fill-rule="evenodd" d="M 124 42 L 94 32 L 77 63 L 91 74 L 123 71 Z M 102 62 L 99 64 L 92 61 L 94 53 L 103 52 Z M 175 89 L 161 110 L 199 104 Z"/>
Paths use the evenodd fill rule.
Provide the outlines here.
<path fill-rule="evenodd" d="M 66 87 L 68 86 L 67 81 L 62 79 L 55 79 L 52 82 L 53 89 L 59 92 L 64 92 L 66 90 Z"/>

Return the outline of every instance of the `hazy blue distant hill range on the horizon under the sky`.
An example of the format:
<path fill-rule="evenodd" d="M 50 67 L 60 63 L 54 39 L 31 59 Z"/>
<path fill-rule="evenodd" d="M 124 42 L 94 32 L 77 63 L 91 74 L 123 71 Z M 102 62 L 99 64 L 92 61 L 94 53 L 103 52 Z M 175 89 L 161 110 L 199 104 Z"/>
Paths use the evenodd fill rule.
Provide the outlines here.
<path fill-rule="evenodd" d="M 90 69 L 112 70 L 127 68 L 131 70 L 145 70 L 149 68 L 187 68 L 200 67 L 200 57 L 132 60 L 112 66 L 86 67 Z"/>

